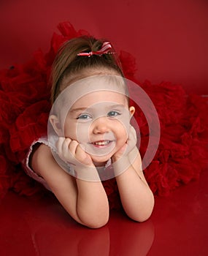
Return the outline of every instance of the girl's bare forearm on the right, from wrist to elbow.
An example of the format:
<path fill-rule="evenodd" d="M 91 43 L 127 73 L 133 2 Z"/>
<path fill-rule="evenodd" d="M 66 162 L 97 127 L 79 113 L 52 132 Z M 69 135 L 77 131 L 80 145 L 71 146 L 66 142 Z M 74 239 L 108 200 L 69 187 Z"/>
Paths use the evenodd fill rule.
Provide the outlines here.
<path fill-rule="evenodd" d="M 116 177 L 120 199 L 128 217 L 139 222 L 148 219 L 153 211 L 154 196 L 148 185 L 131 165 Z"/>

